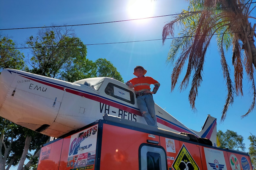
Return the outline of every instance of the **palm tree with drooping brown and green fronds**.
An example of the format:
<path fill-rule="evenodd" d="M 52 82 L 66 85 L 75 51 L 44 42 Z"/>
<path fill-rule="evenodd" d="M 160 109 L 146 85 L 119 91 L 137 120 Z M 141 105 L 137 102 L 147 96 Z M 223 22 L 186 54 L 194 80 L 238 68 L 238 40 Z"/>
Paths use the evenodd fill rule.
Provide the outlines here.
<path fill-rule="evenodd" d="M 188 0 L 187 0 L 188 1 Z M 173 91 L 179 75 L 187 65 L 187 72 L 181 82 L 180 90 L 185 90 L 192 76 L 189 102 L 196 111 L 195 98 L 197 89 L 202 82 L 203 64 L 206 50 L 213 37 L 217 36 L 218 50 L 221 56 L 223 76 L 227 85 L 227 98 L 222 110 L 221 121 L 224 121 L 227 109 L 232 105 L 234 95 L 243 95 L 243 69 L 250 80 L 252 88 L 252 104 L 242 117 L 247 116 L 256 105 L 256 88 L 253 77 L 256 68 L 256 48 L 254 44 L 255 26 L 249 22 L 252 0 L 190 0 L 188 10 L 183 10 L 163 27 L 163 44 L 167 36 L 174 36 L 174 27 L 181 25 L 181 32 L 171 43 L 167 63 L 174 64 L 171 75 L 171 90 Z M 234 84 L 230 78 L 230 68 L 226 61 L 225 51 L 232 47 L 232 64 L 234 66 Z"/>

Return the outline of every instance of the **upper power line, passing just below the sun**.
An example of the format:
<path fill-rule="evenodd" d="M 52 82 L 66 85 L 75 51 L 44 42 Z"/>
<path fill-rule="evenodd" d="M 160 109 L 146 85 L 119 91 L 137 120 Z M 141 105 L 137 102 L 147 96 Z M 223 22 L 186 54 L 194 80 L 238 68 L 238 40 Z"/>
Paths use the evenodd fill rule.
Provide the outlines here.
<path fill-rule="evenodd" d="M 256 3 L 256 2 L 249 2 L 246 4 L 253 4 L 253 3 Z M 237 4 L 237 5 L 246 5 L 246 4 Z M 228 7 L 222 7 L 222 8 L 228 8 Z M 222 8 L 219 8 L 219 9 L 222 9 Z M 197 12 L 202 12 L 202 11 L 185 12 L 185 13 L 179 13 L 179 14 L 189 14 L 189 13 L 197 13 Z M 173 15 L 179 15 L 179 14 L 161 15 L 161 16 L 156 16 L 156 17 L 146 17 L 146 18 L 119 20 L 119 21 L 110 21 L 110 22 L 98 22 L 98 23 L 90 23 L 90 24 L 57 25 L 57 26 L 46 26 L 46 27 L 7 28 L 7 29 L 0 29 L 0 30 L 20 30 L 20 29 L 32 29 L 32 28 L 51 28 L 51 27 L 72 27 L 72 26 L 82 26 L 82 25 L 96 25 L 96 24 L 107 24 L 107 23 L 114 23 L 114 22 L 133 21 L 133 20 L 144 20 L 144 19 L 157 18 L 157 17 L 167 17 L 167 16 L 173 16 Z"/>

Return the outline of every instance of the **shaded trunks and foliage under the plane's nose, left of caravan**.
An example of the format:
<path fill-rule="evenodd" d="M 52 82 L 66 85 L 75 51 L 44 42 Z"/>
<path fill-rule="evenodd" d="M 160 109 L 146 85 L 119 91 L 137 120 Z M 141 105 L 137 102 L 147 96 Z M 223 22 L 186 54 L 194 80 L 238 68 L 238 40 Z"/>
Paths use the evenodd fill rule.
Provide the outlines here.
<path fill-rule="evenodd" d="M 37 166 L 40 145 L 49 139 L 48 136 L 21 127 L 3 118 L 0 118 L 0 131 L 1 170 L 5 170 L 5 166 L 8 170 L 12 165 L 18 165 L 18 170 Z M 34 151 L 33 155 L 31 154 L 32 151 Z M 25 159 L 29 159 L 29 162 L 23 167 Z"/>

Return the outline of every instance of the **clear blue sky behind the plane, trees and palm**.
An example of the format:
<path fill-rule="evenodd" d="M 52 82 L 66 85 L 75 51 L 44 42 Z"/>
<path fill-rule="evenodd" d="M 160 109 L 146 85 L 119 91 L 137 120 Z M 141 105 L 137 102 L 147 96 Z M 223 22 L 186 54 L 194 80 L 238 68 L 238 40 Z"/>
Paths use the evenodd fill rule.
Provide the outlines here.
<path fill-rule="evenodd" d="M 143 7 L 147 7 L 147 9 L 143 12 L 144 15 L 140 16 L 136 11 L 131 12 L 129 10 L 129 6 L 133 3 L 132 0 L 75 0 L 72 3 L 67 0 L 1 1 L 0 29 L 42 27 L 50 26 L 51 23 L 55 25 L 78 25 L 155 17 L 178 14 L 182 9 L 187 9 L 188 6 L 187 2 L 183 0 L 146 0 Z M 139 9 L 142 11 L 143 7 Z M 135 9 L 135 7 L 132 9 Z M 253 15 L 255 16 L 255 14 L 256 10 L 254 10 Z M 171 16 L 166 16 L 144 20 L 74 26 L 73 29 L 75 29 L 77 37 L 84 44 L 154 40 L 162 38 L 162 28 L 170 20 L 172 20 Z M 253 23 L 255 23 L 255 20 L 252 25 Z M 36 36 L 37 31 L 38 29 L 0 30 L 0 33 L 11 36 L 12 40 L 18 44 L 18 47 L 22 47 L 20 44 L 24 43 L 29 36 Z M 165 45 L 162 45 L 161 40 L 88 45 L 87 58 L 93 61 L 98 58 L 106 58 L 111 61 L 125 82 L 134 77 L 132 73 L 136 65 L 143 66 L 147 70 L 146 76 L 153 77 L 161 84 L 158 92 L 154 95 L 155 103 L 187 127 L 197 131 L 200 131 L 203 126 L 207 114 L 211 114 L 211 116 L 217 118 L 217 130 L 226 132 L 229 129 L 237 132 L 238 135 L 242 135 L 246 144 L 246 151 L 248 151 L 250 142 L 247 138 L 250 133 L 256 135 L 256 110 L 241 119 L 241 115 L 245 114 L 251 105 L 251 95 L 246 75 L 244 75 L 244 96 L 235 98 L 233 106 L 227 112 L 225 121 L 220 123 L 227 91 L 216 42 L 212 41 L 210 48 L 207 50 L 203 82 L 196 98 L 197 113 L 193 113 L 188 101 L 190 85 L 187 90 L 180 93 L 179 84 L 177 84 L 175 90 L 172 93 L 170 92 L 170 76 L 173 66 L 166 64 L 170 43 L 171 40 L 169 39 L 165 42 Z M 28 51 L 20 51 L 27 56 Z M 233 73 L 232 55 L 227 53 L 226 56 L 231 73 Z M 179 81 L 182 80 L 182 75 Z"/>

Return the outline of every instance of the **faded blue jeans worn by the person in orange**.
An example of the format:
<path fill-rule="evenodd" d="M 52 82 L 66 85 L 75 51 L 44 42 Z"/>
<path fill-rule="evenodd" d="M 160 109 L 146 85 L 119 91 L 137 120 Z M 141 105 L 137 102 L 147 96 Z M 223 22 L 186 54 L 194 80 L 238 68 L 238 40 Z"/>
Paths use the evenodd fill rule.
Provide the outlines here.
<path fill-rule="evenodd" d="M 140 112 L 144 119 L 146 120 L 147 124 L 150 126 L 157 127 L 157 117 L 155 112 L 155 102 L 153 100 L 153 96 L 142 95 L 137 97 L 138 106 Z M 143 112 L 145 112 L 143 114 Z"/>

